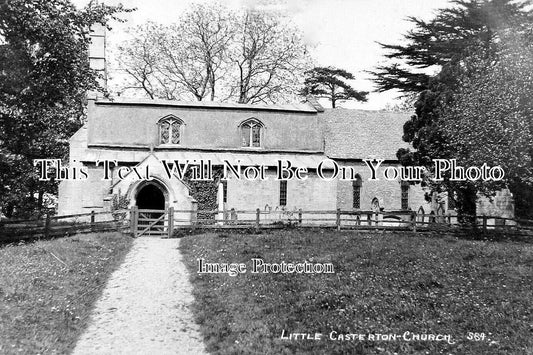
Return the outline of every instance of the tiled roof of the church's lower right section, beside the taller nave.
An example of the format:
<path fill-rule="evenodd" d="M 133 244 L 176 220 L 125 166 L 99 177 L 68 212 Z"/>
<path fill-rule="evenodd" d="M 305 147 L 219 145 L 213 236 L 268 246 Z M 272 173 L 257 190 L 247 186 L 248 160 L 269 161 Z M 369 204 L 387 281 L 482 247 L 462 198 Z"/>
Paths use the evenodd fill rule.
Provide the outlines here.
<path fill-rule="evenodd" d="M 330 158 L 397 160 L 398 148 L 409 146 L 402 135 L 410 113 L 336 108 L 321 115 L 325 153 Z"/>

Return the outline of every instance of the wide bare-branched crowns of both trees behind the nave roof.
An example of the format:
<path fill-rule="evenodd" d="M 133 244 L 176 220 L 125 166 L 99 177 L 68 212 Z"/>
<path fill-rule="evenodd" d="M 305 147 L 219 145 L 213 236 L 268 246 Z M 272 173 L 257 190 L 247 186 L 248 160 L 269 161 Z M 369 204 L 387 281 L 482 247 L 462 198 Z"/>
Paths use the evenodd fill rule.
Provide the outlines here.
<path fill-rule="evenodd" d="M 131 30 L 119 62 L 150 98 L 275 102 L 308 67 L 299 32 L 267 12 L 195 5 L 177 24 Z"/>

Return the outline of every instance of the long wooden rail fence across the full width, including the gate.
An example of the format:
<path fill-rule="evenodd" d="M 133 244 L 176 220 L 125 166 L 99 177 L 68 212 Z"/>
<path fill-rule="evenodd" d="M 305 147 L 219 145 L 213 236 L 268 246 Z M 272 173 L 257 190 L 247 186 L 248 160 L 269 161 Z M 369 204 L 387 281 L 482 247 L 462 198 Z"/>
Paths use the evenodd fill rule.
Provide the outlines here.
<path fill-rule="evenodd" d="M 176 229 L 274 229 L 294 227 L 398 230 L 398 231 L 451 231 L 468 228 L 511 231 L 533 235 L 533 220 L 504 218 L 500 216 L 454 216 L 420 214 L 414 211 L 345 211 L 345 210 L 118 210 L 89 212 L 64 216 L 47 216 L 44 219 L 1 220 L 0 242 L 13 242 L 39 237 L 57 237 L 85 232 L 120 230 L 139 235 L 139 213 L 144 213 L 144 223 L 154 224 L 158 235 L 171 237 Z M 149 214 L 163 213 L 158 217 Z M 147 215 L 148 214 L 148 215 Z M 469 224 L 460 223 L 468 220 Z"/>

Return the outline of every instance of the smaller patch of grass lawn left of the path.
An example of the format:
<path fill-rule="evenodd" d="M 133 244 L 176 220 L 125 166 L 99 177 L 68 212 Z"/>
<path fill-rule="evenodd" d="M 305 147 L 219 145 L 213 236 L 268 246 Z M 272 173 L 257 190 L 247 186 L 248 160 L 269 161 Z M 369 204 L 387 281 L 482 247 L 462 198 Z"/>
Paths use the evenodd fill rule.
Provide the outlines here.
<path fill-rule="evenodd" d="M 0 353 L 72 350 L 131 243 L 99 233 L 0 247 Z"/>

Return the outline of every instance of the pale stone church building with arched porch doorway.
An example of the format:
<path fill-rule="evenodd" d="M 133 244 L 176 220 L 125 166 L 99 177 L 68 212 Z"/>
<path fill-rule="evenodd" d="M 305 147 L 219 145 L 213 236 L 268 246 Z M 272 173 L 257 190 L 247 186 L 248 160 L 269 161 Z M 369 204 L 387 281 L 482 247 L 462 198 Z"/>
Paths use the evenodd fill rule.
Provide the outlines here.
<path fill-rule="evenodd" d="M 399 147 L 406 147 L 401 133 L 407 119 L 408 115 L 399 113 L 324 110 L 317 107 L 316 102 L 314 105 L 266 106 L 110 101 L 93 97 L 88 103 L 87 123 L 70 140 L 70 165 L 84 166 L 89 177 L 60 184 L 58 212 L 66 215 L 110 210 L 112 196 L 117 194 L 129 199 L 129 207 L 142 208 L 143 202 L 138 196 L 149 185 L 152 189 L 155 187 L 156 192 L 160 191 L 160 196 L 156 197 L 164 201 L 158 208 L 196 210 L 197 201 L 191 196 L 187 183 L 175 176 L 169 179 L 163 169 L 162 161 L 174 160 L 205 160 L 214 166 L 230 161 L 243 168 L 269 167 L 264 181 L 230 178 L 226 183 L 226 201 L 223 201 L 220 184 L 214 196 L 220 211 L 217 219 L 254 219 L 257 209 L 264 218 L 273 220 L 295 218 L 300 210 L 369 211 L 379 208 L 402 213 L 436 212 L 439 209 L 437 199 L 427 202 L 420 185 L 405 187 L 402 205 L 401 182 L 383 177 L 370 180 L 371 171 L 363 161 L 383 159 L 382 170 L 399 167 L 395 152 Z M 169 141 L 169 128 L 161 133 L 161 122 L 169 120 L 176 122 L 173 142 Z M 243 128 L 246 122 L 253 124 Z M 281 182 L 273 173 L 280 159 L 309 170 L 306 180 L 287 182 L 283 200 L 280 198 Z M 326 159 L 357 172 L 360 179 L 358 207 L 353 201 L 353 181 L 328 181 L 317 175 L 317 165 Z M 102 165 L 96 165 L 98 160 L 116 160 L 120 166 L 136 167 L 139 171 L 150 166 L 153 181 L 139 180 L 131 172 L 118 179 L 115 166 L 111 166 L 111 178 L 105 180 Z M 500 193 L 493 203 L 480 200 L 478 208 L 507 216 L 512 214 L 512 196 Z M 443 210 L 445 208 L 439 209 Z M 179 219 L 187 222 L 194 218 L 194 213 L 183 212 Z"/>

